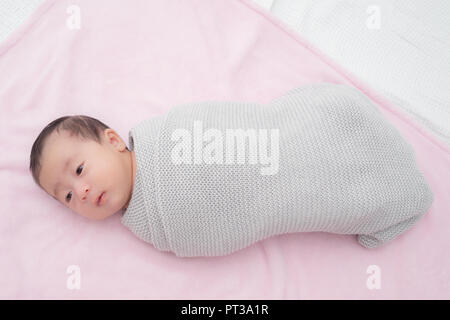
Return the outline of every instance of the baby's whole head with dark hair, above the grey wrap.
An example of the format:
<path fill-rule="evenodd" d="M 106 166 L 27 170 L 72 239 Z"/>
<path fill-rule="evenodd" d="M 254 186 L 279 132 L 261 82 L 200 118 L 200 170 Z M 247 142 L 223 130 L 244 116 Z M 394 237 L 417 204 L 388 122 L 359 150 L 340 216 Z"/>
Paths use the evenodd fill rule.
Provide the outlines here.
<path fill-rule="evenodd" d="M 93 220 L 125 210 L 136 160 L 116 131 L 83 115 L 50 122 L 36 138 L 30 171 L 45 192 Z M 100 199 L 100 201 L 99 201 Z"/>

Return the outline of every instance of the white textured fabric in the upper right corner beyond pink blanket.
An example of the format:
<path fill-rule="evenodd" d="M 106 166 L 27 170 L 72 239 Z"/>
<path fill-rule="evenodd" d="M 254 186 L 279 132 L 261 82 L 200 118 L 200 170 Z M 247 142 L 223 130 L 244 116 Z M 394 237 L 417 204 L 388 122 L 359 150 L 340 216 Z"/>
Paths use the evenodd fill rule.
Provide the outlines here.
<path fill-rule="evenodd" d="M 450 145 L 450 1 L 261 5 Z"/>

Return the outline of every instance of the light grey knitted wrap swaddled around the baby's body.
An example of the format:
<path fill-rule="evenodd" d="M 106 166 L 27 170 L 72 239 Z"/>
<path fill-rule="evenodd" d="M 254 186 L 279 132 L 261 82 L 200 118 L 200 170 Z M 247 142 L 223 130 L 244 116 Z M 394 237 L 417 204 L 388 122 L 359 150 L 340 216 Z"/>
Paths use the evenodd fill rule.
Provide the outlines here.
<path fill-rule="evenodd" d="M 224 154 L 227 129 L 278 129 L 278 171 L 263 175 L 265 165 L 250 162 L 249 139 L 240 163 L 175 163 L 172 134 L 193 133 L 195 121 L 223 133 Z M 267 142 L 258 148 L 271 151 Z M 222 256 L 315 231 L 357 235 L 375 248 L 410 229 L 433 201 L 412 147 L 346 85 L 301 86 L 265 105 L 179 105 L 132 128 L 129 144 L 137 169 L 122 223 L 179 257 Z"/>

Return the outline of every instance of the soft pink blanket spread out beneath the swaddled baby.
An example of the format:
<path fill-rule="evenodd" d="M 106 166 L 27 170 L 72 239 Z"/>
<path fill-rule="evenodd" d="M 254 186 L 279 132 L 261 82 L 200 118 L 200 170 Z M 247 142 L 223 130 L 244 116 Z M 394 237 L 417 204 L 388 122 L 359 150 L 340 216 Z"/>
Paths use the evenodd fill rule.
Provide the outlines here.
<path fill-rule="evenodd" d="M 0 298 L 450 298 L 446 146 L 249 0 L 132 2 L 48 0 L 0 46 Z M 133 125 L 176 104 L 266 103 L 323 81 L 367 94 L 433 189 L 431 212 L 384 247 L 298 233 L 225 257 L 177 258 L 137 239 L 118 215 L 75 215 L 28 172 L 34 139 L 62 115 L 97 117 L 128 142 Z"/>

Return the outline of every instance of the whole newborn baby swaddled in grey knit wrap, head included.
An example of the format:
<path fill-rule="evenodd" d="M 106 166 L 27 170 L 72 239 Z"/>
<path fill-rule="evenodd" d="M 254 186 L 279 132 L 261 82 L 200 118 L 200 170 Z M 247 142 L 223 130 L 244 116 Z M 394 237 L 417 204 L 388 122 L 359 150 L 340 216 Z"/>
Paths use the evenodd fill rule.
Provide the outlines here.
<path fill-rule="evenodd" d="M 267 105 L 179 105 L 129 131 L 60 118 L 36 139 L 36 183 L 73 211 L 118 211 L 137 237 L 179 257 L 221 256 L 293 232 L 379 247 L 433 201 L 414 151 L 355 88 L 301 86 Z"/>

